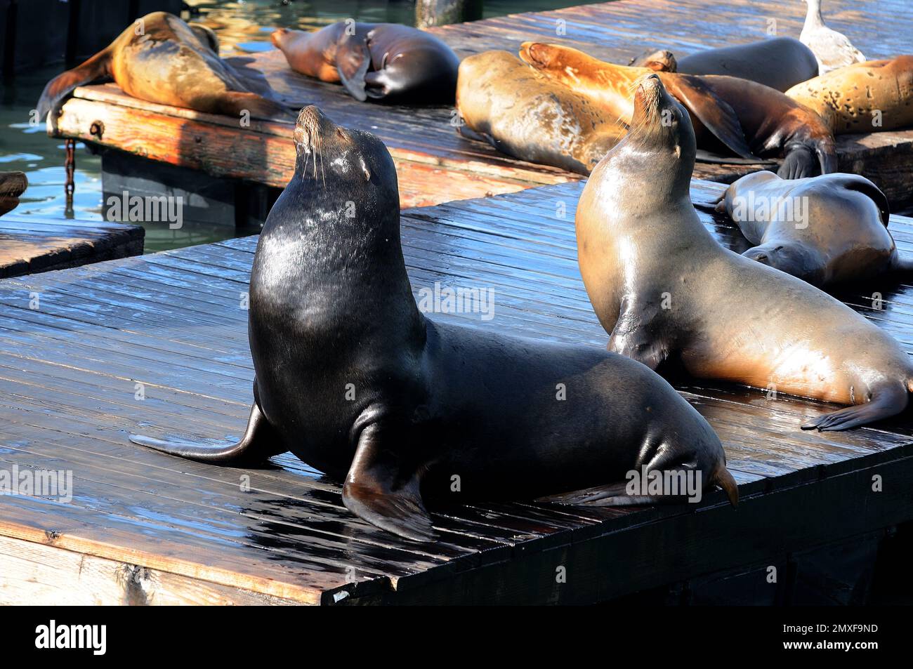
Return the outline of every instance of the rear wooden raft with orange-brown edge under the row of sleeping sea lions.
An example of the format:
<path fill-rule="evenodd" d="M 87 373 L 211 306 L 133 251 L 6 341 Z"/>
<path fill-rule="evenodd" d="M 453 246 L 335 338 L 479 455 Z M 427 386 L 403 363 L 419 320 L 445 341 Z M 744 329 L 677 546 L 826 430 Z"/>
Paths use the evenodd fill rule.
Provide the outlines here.
<path fill-rule="evenodd" d="M 894 57 L 910 50 L 913 5 L 903 0 L 827 3 L 827 22 L 852 37 L 867 57 Z M 777 35 L 798 37 L 801 2 L 712 0 L 618 0 L 551 12 L 517 14 L 433 28 L 460 57 L 488 49 L 516 53 L 529 39 L 567 44 L 618 63 L 647 48 L 666 47 L 678 56 L 708 47 Z M 399 172 L 404 207 L 510 193 L 534 185 L 582 177 L 517 161 L 488 144 L 456 133 L 454 110 L 361 103 L 338 85 L 292 72 L 278 50 L 236 58 L 264 72 L 289 105 L 317 104 L 337 123 L 379 135 Z M 124 95 L 114 85 L 75 91 L 63 108 L 59 135 L 180 165 L 213 177 L 282 188 L 293 172 L 290 128 L 156 105 Z M 874 181 L 892 203 L 913 192 L 913 131 L 837 138 L 839 169 Z M 696 177 L 729 183 L 758 167 L 699 163 Z"/>

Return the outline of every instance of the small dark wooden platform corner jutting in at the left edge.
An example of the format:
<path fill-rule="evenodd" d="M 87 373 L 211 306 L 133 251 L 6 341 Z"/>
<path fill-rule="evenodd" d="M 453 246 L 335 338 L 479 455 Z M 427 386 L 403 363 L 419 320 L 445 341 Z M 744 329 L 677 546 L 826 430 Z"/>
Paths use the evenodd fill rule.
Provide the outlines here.
<path fill-rule="evenodd" d="M 0 216 L 0 277 L 142 254 L 140 225 L 16 214 Z"/>

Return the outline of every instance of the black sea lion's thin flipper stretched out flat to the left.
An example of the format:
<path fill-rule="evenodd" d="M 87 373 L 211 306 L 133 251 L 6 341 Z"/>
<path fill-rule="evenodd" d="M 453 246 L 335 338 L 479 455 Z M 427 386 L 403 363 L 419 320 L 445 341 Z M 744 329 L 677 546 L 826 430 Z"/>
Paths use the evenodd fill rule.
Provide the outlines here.
<path fill-rule="evenodd" d="M 133 444 L 147 446 L 168 455 L 177 455 L 199 462 L 231 465 L 257 465 L 265 462 L 272 455 L 289 450 L 267 423 L 263 413 L 260 413 L 257 402 L 250 407 L 250 418 L 247 419 L 244 436 L 231 444 L 165 441 L 142 434 L 131 434 L 130 440 Z"/>

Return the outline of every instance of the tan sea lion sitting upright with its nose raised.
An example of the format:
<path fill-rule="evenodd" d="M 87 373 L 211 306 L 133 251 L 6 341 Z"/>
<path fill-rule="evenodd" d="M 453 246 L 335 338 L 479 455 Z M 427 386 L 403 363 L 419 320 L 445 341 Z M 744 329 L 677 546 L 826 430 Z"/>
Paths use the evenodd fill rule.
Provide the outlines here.
<path fill-rule="evenodd" d="M 896 340 L 796 277 L 720 246 L 689 186 L 697 142 L 662 75 L 638 80 L 631 131 L 577 205 L 580 270 L 609 350 L 656 369 L 853 404 L 803 424 L 845 430 L 902 412 L 913 362 Z"/>

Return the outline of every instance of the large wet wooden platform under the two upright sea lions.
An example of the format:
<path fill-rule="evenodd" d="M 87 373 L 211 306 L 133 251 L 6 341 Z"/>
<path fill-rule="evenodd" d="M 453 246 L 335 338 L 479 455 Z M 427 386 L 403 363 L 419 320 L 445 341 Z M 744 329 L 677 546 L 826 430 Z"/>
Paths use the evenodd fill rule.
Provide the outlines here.
<path fill-rule="evenodd" d="M 477 327 L 603 347 L 576 265 L 581 188 L 406 212 L 414 288 L 492 287 L 495 319 Z M 719 190 L 695 183 L 695 201 Z M 738 246 L 731 226 L 701 215 Z M 894 217 L 891 229 L 913 253 L 913 221 Z M 582 603 L 643 591 L 725 601 L 733 589 L 741 603 L 857 601 L 866 576 L 855 569 L 913 518 L 909 413 L 804 433 L 804 418 L 834 407 L 687 381 L 677 385 L 740 482 L 737 509 L 719 492 L 687 507 L 433 508 L 441 538 L 415 544 L 352 517 L 340 486 L 291 455 L 231 469 L 130 444 L 137 429 L 243 429 L 253 371 L 241 303 L 256 241 L 0 281 L 0 469 L 74 478 L 69 504 L 0 496 L 0 603 Z M 913 351 L 913 286 L 844 298 Z"/>

